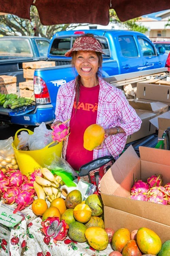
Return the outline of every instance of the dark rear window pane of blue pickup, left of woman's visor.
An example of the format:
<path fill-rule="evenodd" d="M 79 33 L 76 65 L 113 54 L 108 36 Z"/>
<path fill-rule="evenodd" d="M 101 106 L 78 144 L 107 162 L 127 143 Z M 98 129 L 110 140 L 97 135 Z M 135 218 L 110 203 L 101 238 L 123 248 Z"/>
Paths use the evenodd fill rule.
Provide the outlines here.
<path fill-rule="evenodd" d="M 62 55 L 71 49 L 71 38 L 56 38 L 51 46 L 51 55 Z"/>

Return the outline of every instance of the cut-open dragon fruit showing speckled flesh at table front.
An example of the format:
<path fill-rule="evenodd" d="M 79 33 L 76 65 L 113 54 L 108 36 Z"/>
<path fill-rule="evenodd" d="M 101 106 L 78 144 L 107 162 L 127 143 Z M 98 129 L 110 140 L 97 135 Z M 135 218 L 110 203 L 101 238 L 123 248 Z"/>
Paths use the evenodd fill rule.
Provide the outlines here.
<path fill-rule="evenodd" d="M 60 222 L 58 217 L 48 217 L 44 222 L 41 222 L 41 225 L 43 227 L 41 231 L 46 237 L 53 236 L 54 243 L 57 240 L 64 240 L 67 236 L 69 226 L 64 220 Z"/>

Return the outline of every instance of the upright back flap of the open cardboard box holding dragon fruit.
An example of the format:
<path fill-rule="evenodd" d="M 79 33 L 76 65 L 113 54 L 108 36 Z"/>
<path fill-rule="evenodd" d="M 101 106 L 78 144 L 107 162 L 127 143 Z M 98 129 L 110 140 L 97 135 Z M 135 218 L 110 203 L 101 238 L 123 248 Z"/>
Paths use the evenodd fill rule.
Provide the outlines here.
<path fill-rule="evenodd" d="M 169 150 L 139 146 L 139 154 L 140 154 L 140 160 L 170 166 Z M 156 170 L 155 170 L 155 173 L 156 173 Z"/>

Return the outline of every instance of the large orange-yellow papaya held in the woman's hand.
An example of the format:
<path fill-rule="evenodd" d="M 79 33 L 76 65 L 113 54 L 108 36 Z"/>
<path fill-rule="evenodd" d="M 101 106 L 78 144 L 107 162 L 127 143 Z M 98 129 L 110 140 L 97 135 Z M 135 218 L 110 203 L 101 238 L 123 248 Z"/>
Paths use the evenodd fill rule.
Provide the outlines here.
<path fill-rule="evenodd" d="M 104 140 L 104 134 L 102 126 L 97 124 L 88 126 L 84 132 L 84 148 L 89 151 L 94 150 Z"/>

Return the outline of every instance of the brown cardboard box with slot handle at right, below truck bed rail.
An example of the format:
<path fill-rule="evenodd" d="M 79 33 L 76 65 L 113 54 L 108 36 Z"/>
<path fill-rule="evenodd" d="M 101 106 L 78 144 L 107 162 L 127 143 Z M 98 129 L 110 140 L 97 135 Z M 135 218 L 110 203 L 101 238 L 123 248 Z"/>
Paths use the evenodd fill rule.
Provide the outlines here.
<path fill-rule="evenodd" d="M 156 84 L 158 81 L 153 79 L 138 82 L 136 98 L 170 103 L 170 87 L 168 84 Z"/>

